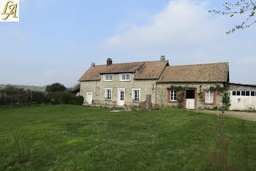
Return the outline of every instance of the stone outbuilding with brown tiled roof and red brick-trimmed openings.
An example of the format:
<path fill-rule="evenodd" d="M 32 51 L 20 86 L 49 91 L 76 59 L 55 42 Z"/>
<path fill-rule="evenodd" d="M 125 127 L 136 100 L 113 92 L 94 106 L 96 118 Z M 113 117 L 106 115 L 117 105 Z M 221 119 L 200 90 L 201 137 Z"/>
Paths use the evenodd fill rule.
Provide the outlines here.
<path fill-rule="evenodd" d="M 223 95 L 214 88 L 228 82 L 227 62 L 166 66 L 157 82 L 157 102 L 163 106 L 182 103 L 187 109 L 222 107 Z"/>

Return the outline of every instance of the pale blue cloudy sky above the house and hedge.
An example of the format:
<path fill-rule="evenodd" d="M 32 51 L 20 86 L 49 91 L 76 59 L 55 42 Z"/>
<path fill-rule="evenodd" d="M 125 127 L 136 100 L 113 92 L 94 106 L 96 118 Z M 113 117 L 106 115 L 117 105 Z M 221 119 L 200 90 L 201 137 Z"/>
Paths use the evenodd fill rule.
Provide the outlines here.
<path fill-rule="evenodd" d="M 0 23 L 0 84 L 72 87 L 94 62 L 171 66 L 229 62 L 230 82 L 256 84 L 256 25 L 209 14 L 220 0 L 20 0 L 20 22 Z"/>

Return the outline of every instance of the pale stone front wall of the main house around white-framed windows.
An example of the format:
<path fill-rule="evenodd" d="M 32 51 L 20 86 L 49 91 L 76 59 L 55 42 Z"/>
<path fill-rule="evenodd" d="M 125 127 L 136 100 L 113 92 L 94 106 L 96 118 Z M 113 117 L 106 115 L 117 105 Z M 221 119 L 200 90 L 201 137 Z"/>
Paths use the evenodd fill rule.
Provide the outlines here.
<path fill-rule="evenodd" d="M 138 105 L 138 102 L 132 102 L 132 88 L 141 88 L 140 102 L 146 101 L 146 95 L 151 94 L 151 102 L 155 104 L 156 80 L 134 80 L 134 74 L 131 75 L 130 81 L 120 81 L 119 74 L 113 75 L 113 81 L 104 81 L 103 75 L 98 81 L 84 81 L 80 83 L 80 94 L 84 97 L 86 103 L 86 92 L 93 93 L 93 104 L 117 105 L 118 88 L 125 88 L 124 104 Z M 105 100 L 105 88 L 112 88 L 112 100 Z"/>

